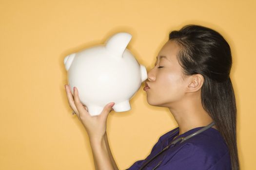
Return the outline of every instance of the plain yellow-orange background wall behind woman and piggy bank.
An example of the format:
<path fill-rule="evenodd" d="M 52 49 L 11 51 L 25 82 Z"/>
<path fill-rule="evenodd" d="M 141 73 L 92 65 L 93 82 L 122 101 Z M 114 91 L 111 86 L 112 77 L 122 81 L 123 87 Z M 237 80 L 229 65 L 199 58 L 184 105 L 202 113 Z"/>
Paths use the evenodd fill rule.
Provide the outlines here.
<path fill-rule="evenodd" d="M 87 133 L 66 98 L 64 57 L 128 32 L 128 49 L 150 70 L 170 31 L 199 24 L 231 46 L 240 165 L 252 170 L 255 9 L 255 0 L 0 0 L 0 169 L 93 170 Z M 143 86 L 130 111 L 108 117 L 120 170 L 144 159 L 161 135 L 177 127 L 168 108 L 147 103 Z"/>

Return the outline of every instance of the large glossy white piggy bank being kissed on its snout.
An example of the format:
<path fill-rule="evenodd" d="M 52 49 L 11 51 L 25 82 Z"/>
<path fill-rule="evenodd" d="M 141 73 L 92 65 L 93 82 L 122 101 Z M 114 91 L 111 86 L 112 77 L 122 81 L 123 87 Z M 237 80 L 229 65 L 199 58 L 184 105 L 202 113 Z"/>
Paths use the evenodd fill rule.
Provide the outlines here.
<path fill-rule="evenodd" d="M 129 100 L 147 79 L 147 70 L 126 49 L 131 34 L 118 33 L 105 45 L 94 46 L 65 57 L 68 83 L 79 91 L 80 101 L 91 116 L 99 115 L 109 102 L 115 112 L 131 109 Z"/>

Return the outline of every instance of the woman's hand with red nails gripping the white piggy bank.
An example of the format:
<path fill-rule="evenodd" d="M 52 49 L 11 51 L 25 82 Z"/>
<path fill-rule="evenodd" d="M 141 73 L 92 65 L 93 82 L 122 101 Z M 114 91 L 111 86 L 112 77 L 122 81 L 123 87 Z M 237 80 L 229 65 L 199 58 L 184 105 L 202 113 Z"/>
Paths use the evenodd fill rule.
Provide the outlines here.
<path fill-rule="evenodd" d="M 88 108 L 80 102 L 78 89 L 74 87 L 74 96 L 71 93 L 70 86 L 65 85 L 67 98 L 70 107 L 76 112 L 78 119 L 85 127 L 90 140 L 98 140 L 104 137 L 106 133 L 106 123 L 108 114 L 113 110 L 114 102 L 108 103 L 102 110 L 100 115 L 91 116 Z M 113 103 L 113 105 L 111 105 Z"/>

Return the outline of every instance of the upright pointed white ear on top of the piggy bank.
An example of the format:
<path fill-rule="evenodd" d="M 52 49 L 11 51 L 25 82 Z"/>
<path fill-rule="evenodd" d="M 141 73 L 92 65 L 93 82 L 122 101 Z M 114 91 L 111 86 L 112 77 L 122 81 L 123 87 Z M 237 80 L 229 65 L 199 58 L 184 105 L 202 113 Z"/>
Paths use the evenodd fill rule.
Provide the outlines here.
<path fill-rule="evenodd" d="M 128 33 L 115 34 L 107 40 L 106 49 L 114 56 L 121 57 L 131 39 L 132 35 Z"/>

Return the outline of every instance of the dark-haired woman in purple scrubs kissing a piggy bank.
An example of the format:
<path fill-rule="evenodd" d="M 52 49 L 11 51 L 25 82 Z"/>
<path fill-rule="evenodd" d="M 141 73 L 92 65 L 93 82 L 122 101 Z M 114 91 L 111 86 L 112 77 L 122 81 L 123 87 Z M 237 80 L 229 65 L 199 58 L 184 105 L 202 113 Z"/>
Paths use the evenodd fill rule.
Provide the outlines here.
<path fill-rule="evenodd" d="M 155 67 L 148 72 L 144 90 L 150 105 L 169 108 L 178 127 L 161 136 L 146 159 L 128 170 L 239 170 L 231 66 L 230 47 L 216 31 L 186 25 L 169 34 Z M 89 135 L 96 169 L 118 170 L 106 134 L 112 103 L 91 117 L 79 101 L 78 90 L 74 87 L 73 97 L 70 87 L 65 87 L 70 106 Z M 158 154 L 173 141 L 211 123 L 215 125 Z"/>

